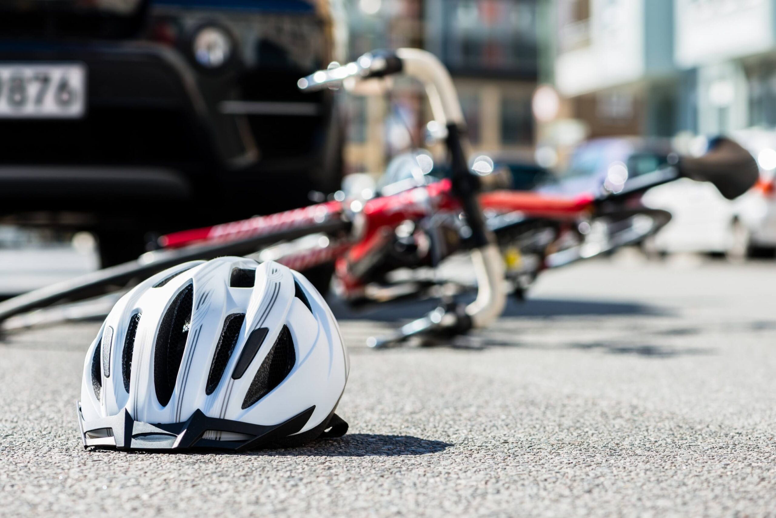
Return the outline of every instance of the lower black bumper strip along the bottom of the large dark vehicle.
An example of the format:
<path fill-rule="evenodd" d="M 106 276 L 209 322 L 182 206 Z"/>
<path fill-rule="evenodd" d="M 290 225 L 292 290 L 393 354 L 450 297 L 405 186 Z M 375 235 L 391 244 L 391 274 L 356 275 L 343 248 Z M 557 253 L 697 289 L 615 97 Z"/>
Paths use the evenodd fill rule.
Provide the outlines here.
<path fill-rule="evenodd" d="M 224 172 L 197 183 L 165 167 L 0 165 L 0 218 L 62 228 L 135 221 L 173 231 L 303 207 L 315 189 L 300 169 Z"/>

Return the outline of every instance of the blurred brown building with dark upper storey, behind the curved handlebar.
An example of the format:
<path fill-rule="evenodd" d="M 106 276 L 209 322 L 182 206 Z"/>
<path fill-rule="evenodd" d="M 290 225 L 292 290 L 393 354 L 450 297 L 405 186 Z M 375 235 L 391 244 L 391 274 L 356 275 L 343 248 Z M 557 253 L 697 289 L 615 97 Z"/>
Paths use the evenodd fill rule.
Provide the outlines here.
<path fill-rule="evenodd" d="M 537 0 L 348 0 L 351 58 L 374 48 L 421 47 L 442 59 L 459 90 L 469 137 L 483 150 L 530 150 L 537 76 Z M 379 171 L 420 144 L 428 106 L 417 85 L 385 99 L 348 99 L 348 164 Z"/>

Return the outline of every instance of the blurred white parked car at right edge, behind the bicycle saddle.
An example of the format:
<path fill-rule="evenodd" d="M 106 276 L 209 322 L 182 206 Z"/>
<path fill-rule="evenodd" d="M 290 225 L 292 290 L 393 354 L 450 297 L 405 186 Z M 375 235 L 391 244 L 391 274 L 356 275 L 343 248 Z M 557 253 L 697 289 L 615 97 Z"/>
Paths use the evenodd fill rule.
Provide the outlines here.
<path fill-rule="evenodd" d="M 708 183 L 681 179 L 650 189 L 647 207 L 668 210 L 673 219 L 650 243 L 656 252 L 719 252 L 732 259 L 776 251 L 776 134 L 736 135 L 757 158 L 760 182 L 729 201 Z"/>

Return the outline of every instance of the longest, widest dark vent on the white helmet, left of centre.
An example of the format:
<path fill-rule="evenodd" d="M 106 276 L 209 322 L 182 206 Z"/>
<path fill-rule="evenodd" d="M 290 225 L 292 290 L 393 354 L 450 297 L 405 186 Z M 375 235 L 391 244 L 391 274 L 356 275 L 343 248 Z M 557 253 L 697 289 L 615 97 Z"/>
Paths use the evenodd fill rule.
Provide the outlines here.
<path fill-rule="evenodd" d="M 194 287 L 186 286 L 175 296 L 161 319 L 154 347 L 154 387 L 159 404 L 167 406 L 178 379 L 189 325 L 192 319 Z"/>

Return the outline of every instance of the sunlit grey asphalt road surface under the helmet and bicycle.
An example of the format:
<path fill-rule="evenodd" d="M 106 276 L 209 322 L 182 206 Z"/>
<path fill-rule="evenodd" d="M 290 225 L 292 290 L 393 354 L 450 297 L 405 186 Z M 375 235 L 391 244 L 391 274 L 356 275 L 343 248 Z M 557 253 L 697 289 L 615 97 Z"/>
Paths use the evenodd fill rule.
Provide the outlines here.
<path fill-rule="evenodd" d="M 341 440 L 251 454 L 85 451 L 99 324 L 0 344 L 2 516 L 776 516 L 776 264 L 590 262 L 435 348 L 343 314 Z"/>

